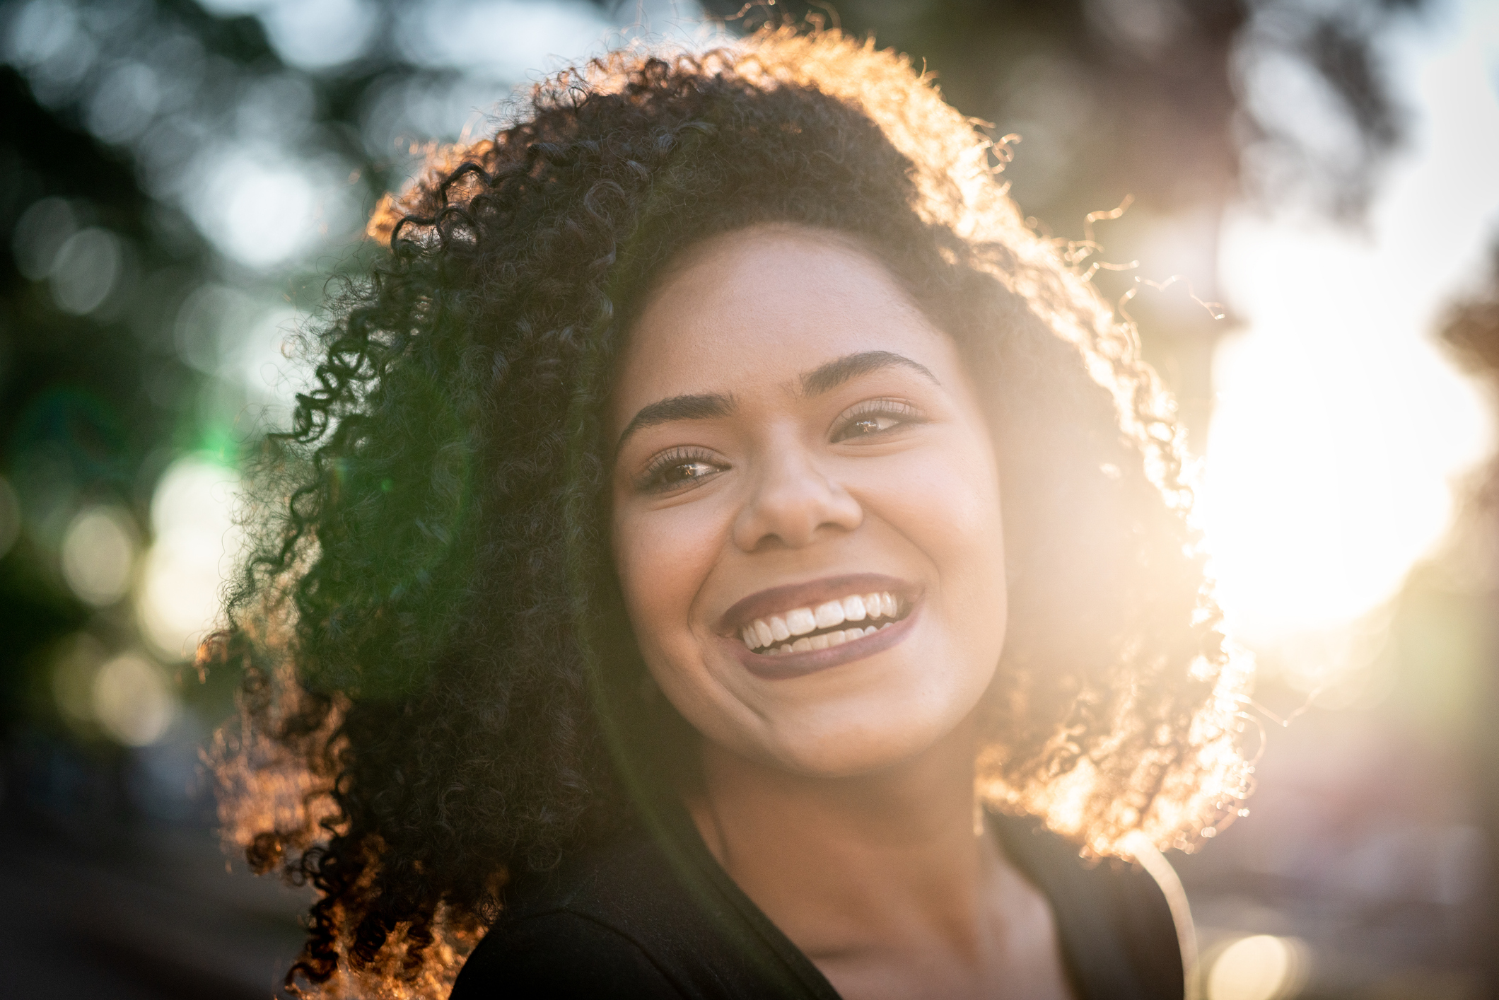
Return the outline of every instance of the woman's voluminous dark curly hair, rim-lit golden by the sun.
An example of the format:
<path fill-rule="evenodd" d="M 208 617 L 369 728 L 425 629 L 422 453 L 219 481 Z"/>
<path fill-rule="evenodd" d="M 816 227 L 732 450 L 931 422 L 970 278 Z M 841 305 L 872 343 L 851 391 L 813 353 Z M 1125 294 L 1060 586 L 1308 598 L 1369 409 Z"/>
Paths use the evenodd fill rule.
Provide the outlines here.
<path fill-rule="evenodd" d="M 442 996 L 511 874 L 639 822 L 682 759 L 642 696 L 600 427 L 652 282 L 755 223 L 875 255 L 985 393 L 1012 625 L 979 793 L 1094 855 L 1232 817 L 1246 669 L 1172 403 L 1006 157 L 904 57 L 781 28 L 553 75 L 382 202 L 388 258 L 265 444 L 259 543 L 199 654 L 243 670 L 226 834 L 318 894 L 289 988 Z"/>

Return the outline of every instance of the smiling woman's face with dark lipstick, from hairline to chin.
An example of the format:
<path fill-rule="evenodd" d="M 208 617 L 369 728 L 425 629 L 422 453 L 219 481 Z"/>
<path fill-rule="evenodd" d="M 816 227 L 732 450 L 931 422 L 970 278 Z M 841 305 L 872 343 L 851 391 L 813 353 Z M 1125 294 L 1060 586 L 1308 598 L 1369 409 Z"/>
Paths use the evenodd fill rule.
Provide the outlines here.
<path fill-rule="evenodd" d="M 693 247 L 610 420 L 630 619 L 703 736 L 848 777 L 973 711 L 1004 642 L 994 450 L 955 345 L 883 264 L 790 226 Z"/>

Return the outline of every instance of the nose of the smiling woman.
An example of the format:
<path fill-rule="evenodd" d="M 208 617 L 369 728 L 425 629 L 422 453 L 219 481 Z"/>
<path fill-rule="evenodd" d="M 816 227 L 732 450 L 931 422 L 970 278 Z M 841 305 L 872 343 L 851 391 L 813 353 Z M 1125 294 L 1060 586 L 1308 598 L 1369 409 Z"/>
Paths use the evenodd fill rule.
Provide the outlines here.
<path fill-rule="evenodd" d="M 800 549 L 823 529 L 853 531 L 863 508 L 848 490 L 797 447 L 778 447 L 760 462 L 754 492 L 735 517 L 733 538 L 745 552 L 775 546 Z"/>

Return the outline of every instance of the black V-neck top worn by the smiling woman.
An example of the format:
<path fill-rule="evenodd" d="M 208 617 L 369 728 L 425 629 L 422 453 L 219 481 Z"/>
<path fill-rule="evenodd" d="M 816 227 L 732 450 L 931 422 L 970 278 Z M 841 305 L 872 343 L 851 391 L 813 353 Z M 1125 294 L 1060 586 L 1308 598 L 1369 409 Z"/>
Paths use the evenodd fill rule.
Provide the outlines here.
<path fill-rule="evenodd" d="M 1088 867 L 1075 846 L 1033 820 L 992 816 L 991 826 L 1049 900 L 1078 1000 L 1183 997 L 1181 939 L 1145 870 Z M 619 840 L 513 888 L 451 994 L 499 997 L 838 1000 L 838 993 L 735 885 L 678 808 L 658 838 Z"/>

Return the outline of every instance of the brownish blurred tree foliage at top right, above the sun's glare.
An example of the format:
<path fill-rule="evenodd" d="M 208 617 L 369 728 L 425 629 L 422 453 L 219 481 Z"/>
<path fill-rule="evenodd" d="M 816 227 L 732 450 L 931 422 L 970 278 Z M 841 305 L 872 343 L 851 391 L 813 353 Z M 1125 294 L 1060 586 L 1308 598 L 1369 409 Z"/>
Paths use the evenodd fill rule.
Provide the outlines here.
<path fill-rule="evenodd" d="M 823 19 L 925 60 L 959 111 L 995 138 L 1021 136 L 1004 172 L 1043 232 L 1081 240 L 1090 213 L 1130 199 L 1117 222 L 1091 226 L 1103 246 L 1093 259 L 1124 267 L 1094 280 L 1139 321 L 1201 451 L 1225 328 L 1205 304 L 1223 208 L 1244 198 L 1358 220 L 1402 138 L 1379 42 L 1426 0 L 711 6 L 747 22 Z"/>

